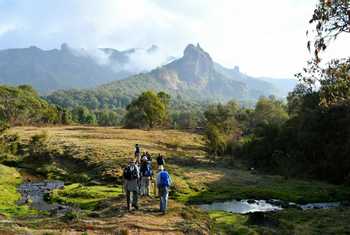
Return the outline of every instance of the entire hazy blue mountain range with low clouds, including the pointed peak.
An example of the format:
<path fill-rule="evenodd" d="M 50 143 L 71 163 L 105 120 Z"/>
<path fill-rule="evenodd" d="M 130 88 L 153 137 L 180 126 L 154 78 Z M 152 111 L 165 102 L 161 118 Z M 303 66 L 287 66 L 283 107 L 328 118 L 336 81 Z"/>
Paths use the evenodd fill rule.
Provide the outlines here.
<path fill-rule="evenodd" d="M 152 70 L 153 69 L 153 70 Z M 285 97 L 296 81 L 254 78 L 213 61 L 199 44 L 189 44 L 181 58 L 170 57 L 156 45 L 147 49 L 60 49 L 37 47 L 0 51 L 0 83 L 28 84 L 41 94 L 90 89 L 114 96 L 135 97 L 145 90 L 166 91 L 188 100 L 256 100 Z M 57 94 L 57 93 L 56 93 Z"/>

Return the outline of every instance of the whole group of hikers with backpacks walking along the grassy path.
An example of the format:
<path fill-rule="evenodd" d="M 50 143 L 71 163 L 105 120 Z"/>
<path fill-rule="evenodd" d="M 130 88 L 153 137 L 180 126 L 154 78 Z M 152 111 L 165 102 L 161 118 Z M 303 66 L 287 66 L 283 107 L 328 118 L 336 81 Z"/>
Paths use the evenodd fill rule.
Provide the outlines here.
<path fill-rule="evenodd" d="M 128 165 L 123 172 L 124 190 L 129 211 L 132 207 L 136 210 L 138 207 L 138 196 L 151 196 L 151 186 L 154 182 L 154 195 L 160 198 L 160 212 L 166 213 L 168 206 L 169 188 L 171 178 L 165 170 L 165 160 L 160 154 L 157 156 L 158 172 L 153 181 L 152 156 L 148 152 L 141 154 L 140 145 L 135 145 L 135 156 L 129 160 Z M 158 190 L 157 190 L 158 189 Z M 157 192 L 158 191 L 158 194 Z"/>

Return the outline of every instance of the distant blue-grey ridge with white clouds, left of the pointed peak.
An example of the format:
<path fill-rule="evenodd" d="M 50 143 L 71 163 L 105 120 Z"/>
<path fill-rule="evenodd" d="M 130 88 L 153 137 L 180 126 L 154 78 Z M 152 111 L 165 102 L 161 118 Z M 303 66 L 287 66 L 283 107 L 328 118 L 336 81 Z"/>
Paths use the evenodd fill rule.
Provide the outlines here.
<path fill-rule="evenodd" d="M 59 89 L 84 89 L 148 71 L 166 62 L 156 46 L 119 51 L 113 48 L 29 48 L 0 51 L 0 83 L 28 84 L 41 94 Z"/>

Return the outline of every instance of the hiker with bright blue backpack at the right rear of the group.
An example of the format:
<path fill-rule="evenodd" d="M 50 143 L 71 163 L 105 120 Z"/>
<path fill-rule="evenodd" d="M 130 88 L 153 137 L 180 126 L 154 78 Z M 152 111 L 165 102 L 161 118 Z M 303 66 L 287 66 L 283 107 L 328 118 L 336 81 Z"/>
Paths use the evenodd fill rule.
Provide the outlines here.
<path fill-rule="evenodd" d="M 160 212 L 165 214 L 168 207 L 168 197 L 169 197 L 169 188 L 171 185 L 171 178 L 169 173 L 163 168 L 159 170 L 157 175 L 157 187 L 160 197 Z"/>

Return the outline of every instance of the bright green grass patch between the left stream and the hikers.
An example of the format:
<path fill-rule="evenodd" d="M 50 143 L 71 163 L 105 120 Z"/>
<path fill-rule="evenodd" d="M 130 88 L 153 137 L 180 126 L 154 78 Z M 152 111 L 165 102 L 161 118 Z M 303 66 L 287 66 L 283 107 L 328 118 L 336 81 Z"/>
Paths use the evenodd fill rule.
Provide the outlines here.
<path fill-rule="evenodd" d="M 122 189 L 110 186 L 83 186 L 71 184 L 64 189 L 56 189 L 51 193 L 52 202 L 77 206 L 81 209 L 94 210 L 99 202 L 118 197 Z"/>

